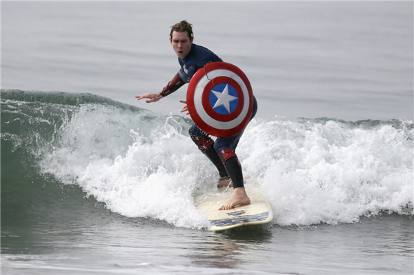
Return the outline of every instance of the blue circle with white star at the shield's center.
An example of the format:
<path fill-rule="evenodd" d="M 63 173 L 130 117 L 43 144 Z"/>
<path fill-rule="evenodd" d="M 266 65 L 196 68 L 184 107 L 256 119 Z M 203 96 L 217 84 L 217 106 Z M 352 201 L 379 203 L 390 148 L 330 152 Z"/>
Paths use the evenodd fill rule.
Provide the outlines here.
<path fill-rule="evenodd" d="M 237 108 L 239 96 L 232 85 L 221 83 L 215 85 L 208 97 L 211 108 L 219 114 L 231 114 Z"/>

